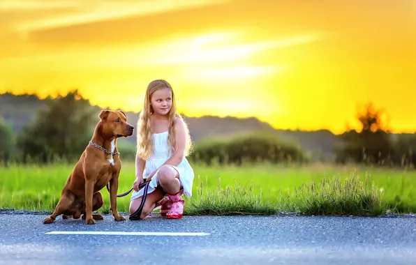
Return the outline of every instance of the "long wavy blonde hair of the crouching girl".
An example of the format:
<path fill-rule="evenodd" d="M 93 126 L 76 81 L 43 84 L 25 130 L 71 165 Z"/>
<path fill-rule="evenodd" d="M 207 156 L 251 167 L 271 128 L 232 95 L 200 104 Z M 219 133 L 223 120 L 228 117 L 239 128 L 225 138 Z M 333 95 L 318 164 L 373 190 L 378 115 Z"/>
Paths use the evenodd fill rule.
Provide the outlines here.
<path fill-rule="evenodd" d="M 170 108 L 169 116 L 169 129 L 168 129 L 168 146 L 172 151 L 176 150 L 175 136 L 176 132 L 174 130 L 174 120 L 182 119 L 181 114 L 177 111 L 176 102 L 174 98 L 174 93 L 172 86 L 163 79 L 156 79 L 149 83 L 146 90 L 146 95 L 144 96 L 144 105 L 143 109 L 140 112 L 138 119 L 138 131 L 137 131 L 137 153 L 136 156 L 139 156 L 143 160 L 146 160 L 154 152 L 154 142 L 153 142 L 153 130 L 151 129 L 150 116 L 153 114 L 153 109 L 150 105 L 151 96 L 155 91 L 160 89 L 170 89 L 172 93 L 172 107 Z M 185 122 L 184 122 L 185 123 Z M 191 135 L 189 134 L 188 126 L 185 123 L 185 132 L 186 132 L 186 144 L 184 157 L 188 156 L 191 153 L 192 141 Z"/>

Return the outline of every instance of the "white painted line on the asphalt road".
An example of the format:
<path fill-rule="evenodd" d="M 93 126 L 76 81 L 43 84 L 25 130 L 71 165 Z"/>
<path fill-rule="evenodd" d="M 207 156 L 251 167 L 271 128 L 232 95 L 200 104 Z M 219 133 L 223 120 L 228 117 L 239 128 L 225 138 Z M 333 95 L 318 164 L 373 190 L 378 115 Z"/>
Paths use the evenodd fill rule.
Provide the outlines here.
<path fill-rule="evenodd" d="M 45 234 L 94 234 L 110 236 L 209 236 L 198 232 L 112 232 L 112 231 L 52 231 Z"/>

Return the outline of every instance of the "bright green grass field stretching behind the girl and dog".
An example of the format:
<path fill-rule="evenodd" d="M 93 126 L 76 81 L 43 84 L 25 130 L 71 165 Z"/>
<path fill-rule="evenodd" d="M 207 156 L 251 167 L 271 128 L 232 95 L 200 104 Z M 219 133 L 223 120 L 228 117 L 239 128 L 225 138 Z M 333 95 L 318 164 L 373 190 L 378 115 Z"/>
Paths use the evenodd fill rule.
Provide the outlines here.
<path fill-rule="evenodd" d="M 193 165 L 193 197 L 185 214 L 378 215 L 385 211 L 416 213 L 416 172 L 343 167 Z M 73 165 L 0 168 L 0 209 L 53 211 Z M 134 181 L 133 162 L 124 162 L 119 192 Z M 108 212 L 110 198 L 101 190 Z M 117 199 L 128 212 L 130 195 Z"/>

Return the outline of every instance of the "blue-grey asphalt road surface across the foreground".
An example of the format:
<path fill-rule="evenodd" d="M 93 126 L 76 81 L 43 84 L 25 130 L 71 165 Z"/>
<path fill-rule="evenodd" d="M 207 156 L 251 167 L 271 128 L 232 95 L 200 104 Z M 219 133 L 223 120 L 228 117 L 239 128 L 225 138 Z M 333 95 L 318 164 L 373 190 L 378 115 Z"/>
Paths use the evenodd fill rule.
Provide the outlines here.
<path fill-rule="evenodd" d="M 184 216 L 96 225 L 0 214 L 0 264 L 416 264 L 416 218 Z M 46 234 L 198 232 L 199 236 Z"/>

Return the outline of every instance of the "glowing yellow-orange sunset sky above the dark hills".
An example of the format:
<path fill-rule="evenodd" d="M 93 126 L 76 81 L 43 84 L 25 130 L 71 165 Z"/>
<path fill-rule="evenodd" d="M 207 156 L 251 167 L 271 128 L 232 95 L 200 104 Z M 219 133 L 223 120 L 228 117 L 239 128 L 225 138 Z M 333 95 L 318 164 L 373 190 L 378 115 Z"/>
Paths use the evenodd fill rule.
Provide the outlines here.
<path fill-rule="evenodd" d="M 340 133 L 371 100 L 416 130 L 413 0 L 1 0 L 0 24 L 0 93 L 138 112 L 163 78 L 188 116 Z"/>

